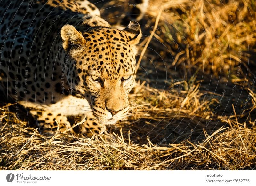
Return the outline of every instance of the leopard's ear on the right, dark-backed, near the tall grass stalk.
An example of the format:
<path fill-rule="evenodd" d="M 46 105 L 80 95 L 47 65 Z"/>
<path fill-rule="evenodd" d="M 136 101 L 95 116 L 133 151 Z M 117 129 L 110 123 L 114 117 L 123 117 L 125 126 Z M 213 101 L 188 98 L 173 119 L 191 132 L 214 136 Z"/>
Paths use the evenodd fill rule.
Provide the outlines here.
<path fill-rule="evenodd" d="M 132 44 L 138 44 L 142 36 L 139 23 L 130 21 L 129 25 L 123 30 Z"/>

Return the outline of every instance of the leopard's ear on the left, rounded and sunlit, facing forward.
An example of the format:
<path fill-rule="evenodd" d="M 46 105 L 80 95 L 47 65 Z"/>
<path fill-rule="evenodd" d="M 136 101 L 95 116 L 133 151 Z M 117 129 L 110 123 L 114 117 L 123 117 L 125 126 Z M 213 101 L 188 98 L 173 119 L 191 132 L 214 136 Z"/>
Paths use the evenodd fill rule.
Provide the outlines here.
<path fill-rule="evenodd" d="M 61 28 L 60 35 L 63 40 L 62 46 L 67 53 L 71 53 L 71 51 L 79 49 L 85 44 L 83 35 L 72 25 L 64 25 Z"/>

